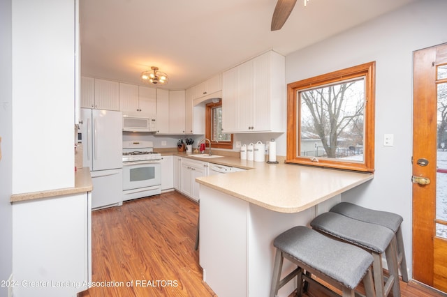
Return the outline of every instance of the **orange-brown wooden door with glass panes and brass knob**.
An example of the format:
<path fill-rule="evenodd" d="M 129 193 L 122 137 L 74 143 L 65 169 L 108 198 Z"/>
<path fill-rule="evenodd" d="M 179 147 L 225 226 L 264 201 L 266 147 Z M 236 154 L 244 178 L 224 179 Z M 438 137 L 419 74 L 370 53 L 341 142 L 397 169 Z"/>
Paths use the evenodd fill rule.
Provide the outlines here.
<path fill-rule="evenodd" d="M 413 63 L 413 279 L 447 291 L 447 45 Z"/>

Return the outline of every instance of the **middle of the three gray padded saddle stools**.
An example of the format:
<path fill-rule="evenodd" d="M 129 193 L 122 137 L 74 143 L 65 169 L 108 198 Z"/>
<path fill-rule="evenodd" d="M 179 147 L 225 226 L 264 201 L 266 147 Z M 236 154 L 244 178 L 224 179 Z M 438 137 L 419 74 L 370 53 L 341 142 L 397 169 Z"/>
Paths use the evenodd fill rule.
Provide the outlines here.
<path fill-rule="evenodd" d="M 348 218 L 339 213 L 322 213 L 310 223 L 312 228 L 357 245 L 371 252 L 376 296 L 388 296 L 393 289 L 393 296 L 400 296 L 399 273 L 397 270 L 396 247 L 394 233 L 378 224 L 370 224 Z M 390 277 L 384 283 L 382 255 L 386 255 Z"/>

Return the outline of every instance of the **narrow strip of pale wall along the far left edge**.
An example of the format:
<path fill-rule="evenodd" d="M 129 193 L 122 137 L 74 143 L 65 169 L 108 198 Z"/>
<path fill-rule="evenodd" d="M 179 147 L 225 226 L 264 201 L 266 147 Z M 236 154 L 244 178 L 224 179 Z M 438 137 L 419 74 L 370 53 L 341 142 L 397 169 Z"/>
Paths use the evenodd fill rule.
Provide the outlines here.
<path fill-rule="evenodd" d="M 13 172 L 11 42 L 11 0 L 0 1 L 0 280 L 8 280 L 13 271 L 13 208 L 9 202 Z M 8 288 L 0 286 L 0 296 L 7 295 Z"/>

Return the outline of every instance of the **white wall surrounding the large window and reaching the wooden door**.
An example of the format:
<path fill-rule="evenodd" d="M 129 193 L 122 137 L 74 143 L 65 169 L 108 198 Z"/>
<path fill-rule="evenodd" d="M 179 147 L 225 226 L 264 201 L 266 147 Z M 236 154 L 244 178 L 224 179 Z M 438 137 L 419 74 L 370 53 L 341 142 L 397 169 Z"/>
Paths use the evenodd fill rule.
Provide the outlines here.
<path fill-rule="evenodd" d="M 417 1 L 286 56 L 287 83 L 376 61 L 376 172 L 342 199 L 402 215 L 409 264 L 413 51 L 447 43 L 446 11 L 447 1 Z M 383 146 L 386 133 L 394 134 L 394 146 Z"/>

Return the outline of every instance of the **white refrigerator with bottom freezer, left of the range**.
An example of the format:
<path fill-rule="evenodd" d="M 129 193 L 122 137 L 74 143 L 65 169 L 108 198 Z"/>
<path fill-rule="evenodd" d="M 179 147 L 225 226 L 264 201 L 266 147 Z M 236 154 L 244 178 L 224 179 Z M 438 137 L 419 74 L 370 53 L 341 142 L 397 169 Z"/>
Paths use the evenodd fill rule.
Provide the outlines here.
<path fill-rule="evenodd" d="M 122 112 L 81 109 L 83 166 L 90 167 L 91 208 L 122 205 Z"/>

